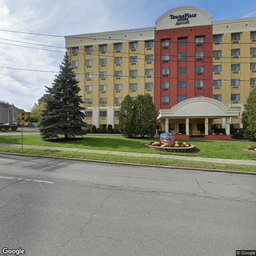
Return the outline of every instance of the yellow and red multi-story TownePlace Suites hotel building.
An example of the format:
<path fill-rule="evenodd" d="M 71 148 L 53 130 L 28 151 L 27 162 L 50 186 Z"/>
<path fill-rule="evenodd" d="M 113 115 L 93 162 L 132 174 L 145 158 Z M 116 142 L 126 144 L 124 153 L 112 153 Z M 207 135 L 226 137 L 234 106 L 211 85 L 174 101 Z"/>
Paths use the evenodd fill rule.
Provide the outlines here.
<path fill-rule="evenodd" d="M 117 128 L 122 99 L 145 93 L 163 130 L 241 127 L 243 104 L 256 86 L 256 18 L 213 21 L 201 8 L 182 6 L 154 27 L 65 39 L 88 127 Z"/>

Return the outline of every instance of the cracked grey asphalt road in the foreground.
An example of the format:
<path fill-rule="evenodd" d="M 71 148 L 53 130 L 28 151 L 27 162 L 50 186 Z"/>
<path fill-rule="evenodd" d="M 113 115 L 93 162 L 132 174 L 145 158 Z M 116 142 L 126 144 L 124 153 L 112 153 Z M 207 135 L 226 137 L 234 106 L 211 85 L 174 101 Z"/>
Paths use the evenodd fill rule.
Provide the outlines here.
<path fill-rule="evenodd" d="M 0 155 L 0 255 L 235 256 L 256 249 L 255 179 Z"/>

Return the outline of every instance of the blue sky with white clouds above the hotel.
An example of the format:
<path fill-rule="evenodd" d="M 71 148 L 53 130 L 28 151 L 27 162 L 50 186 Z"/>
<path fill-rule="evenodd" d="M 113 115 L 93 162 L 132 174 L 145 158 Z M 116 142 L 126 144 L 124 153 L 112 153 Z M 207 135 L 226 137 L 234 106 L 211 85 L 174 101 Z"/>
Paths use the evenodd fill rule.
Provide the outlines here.
<path fill-rule="evenodd" d="M 2 30 L 67 36 L 145 28 L 154 26 L 166 11 L 186 5 L 206 10 L 213 20 L 256 16 L 255 0 L 0 0 L 0 4 L 0 66 L 5 67 L 0 68 L 0 100 L 26 111 L 45 93 L 44 86 L 51 86 L 55 74 L 13 68 L 58 72 L 64 53 L 49 50 L 65 49 L 36 44 L 65 47 L 65 40 Z"/>

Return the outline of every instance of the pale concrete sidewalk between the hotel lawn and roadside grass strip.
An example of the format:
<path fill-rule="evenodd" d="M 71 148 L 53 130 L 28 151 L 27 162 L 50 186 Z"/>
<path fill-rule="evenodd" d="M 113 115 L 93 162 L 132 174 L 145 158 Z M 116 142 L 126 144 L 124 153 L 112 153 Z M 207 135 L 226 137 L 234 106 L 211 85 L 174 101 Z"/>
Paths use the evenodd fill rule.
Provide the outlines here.
<path fill-rule="evenodd" d="M 21 148 L 20 144 L 0 143 L 0 146 Z M 190 161 L 198 161 L 198 162 L 256 166 L 255 160 L 206 158 L 206 157 L 197 157 L 197 156 L 174 156 L 174 155 L 162 155 L 162 154 L 146 154 L 146 153 L 134 153 L 134 152 L 120 152 L 120 151 L 96 150 L 96 149 L 94 150 L 94 149 L 82 149 L 82 148 L 64 148 L 64 147 L 51 147 L 51 146 L 35 146 L 35 145 L 23 145 L 23 148 L 76 151 L 76 152 L 84 152 L 84 153 L 109 154 L 109 155 L 117 155 L 117 156 L 136 156 L 136 157 L 151 157 L 151 158 L 156 157 L 156 158 L 168 158 L 168 159 L 178 159 L 178 160 L 190 160 Z M 252 154 L 254 153 L 252 152 Z"/>

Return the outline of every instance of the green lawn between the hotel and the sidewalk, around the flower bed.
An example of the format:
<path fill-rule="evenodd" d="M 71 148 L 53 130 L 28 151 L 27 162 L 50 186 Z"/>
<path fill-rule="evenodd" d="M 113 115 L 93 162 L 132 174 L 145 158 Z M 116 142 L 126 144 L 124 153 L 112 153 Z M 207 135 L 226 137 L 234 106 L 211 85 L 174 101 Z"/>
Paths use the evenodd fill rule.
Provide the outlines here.
<path fill-rule="evenodd" d="M 155 139 L 157 140 L 157 139 Z M 138 152 L 151 154 L 170 154 L 180 156 L 198 156 L 207 158 L 226 158 L 226 159 L 242 159 L 256 160 L 254 152 L 244 151 L 255 142 L 240 140 L 184 140 L 196 146 L 194 153 L 171 153 L 155 151 L 146 148 L 144 144 L 152 140 L 148 139 L 127 139 L 122 136 L 84 136 L 81 140 L 73 140 L 69 142 L 57 142 L 56 140 L 44 141 L 40 136 L 23 136 L 23 144 L 68 147 L 68 148 L 87 148 L 98 150 L 113 150 L 124 152 Z M 0 136 L 0 143 L 21 144 L 21 136 Z"/>

